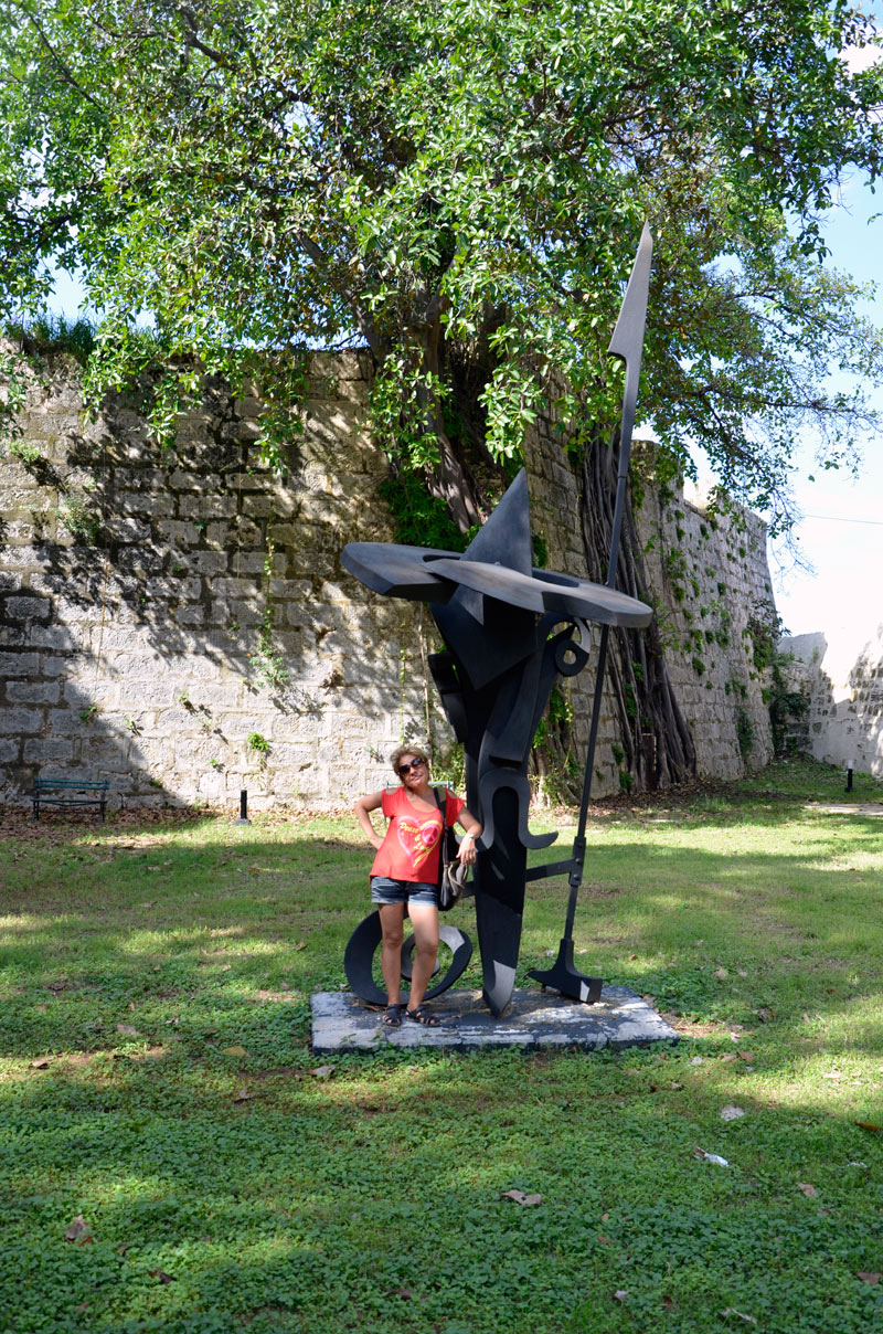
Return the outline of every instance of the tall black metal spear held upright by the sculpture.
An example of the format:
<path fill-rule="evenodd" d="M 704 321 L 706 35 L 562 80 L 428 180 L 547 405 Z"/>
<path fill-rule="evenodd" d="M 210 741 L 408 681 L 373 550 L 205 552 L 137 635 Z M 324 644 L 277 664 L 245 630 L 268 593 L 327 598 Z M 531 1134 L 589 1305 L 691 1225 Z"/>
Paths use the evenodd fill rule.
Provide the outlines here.
<path fill-rule="evenodd" d="M 644 347 L 644 325 L 647 323 L 647 295 L 650 291 L 650 265 L 654 255 L 654 239 L 650 227 L 644 223 L 640 235 L 640 244 L 635 264 L 632 267 L 626 296 L 619 311 L 616 328 L 607 350 L 610 356 L 618 356 L 626 363 L 626 386 L 623 388 L 623 408 L 619 431 L 619 470 L 616 476 L 616 503 L 614 506 L 614 527 L 610 539 L 610 562 L 607 566 L 607 587 L 616 584 L 616 567 L 619 564 L 619 540 L 623 527 L 623 512 L 626 508 L 626 488 L 628 484 L 628 460 L 631 456 L 632 432 L 635 430 L 635 410 L 638 407 L 638 386 L 640 382 L 640 359 Z M 574 918 L 576 915 L 576 895 L 583 883 L 583 866 L 586 862 L 586 820 L 588 818 L 588 800 L 592 790 L 592 770 L 595 767 L 595 747 L 598 744 L 598 726 L 600 722 L 602 696 L 604 694 L 604 671 L 607 667 L 607 643 L 610 639 L 610 626 L 602 626 L 600 644 L 598 648 L 598 668 L 595 675 L 595 698 L 592 702 L 592 722 L 588 732 L 588 751 L 586 755 L 586 775 L 583 779 L 583 798 L 579 808 L 579 824 L 574 839 L 574 855 L 570 871 L 570 898 L 567 902 L 567 922 L 564 936 L 559 944 L 558 958 L 551 968 L 531 968 L 528 976 L 542 982 L 546 987 L 554 987 L 562 995 L 572 996 L 574 1000 L 586 1000 L 590 1005 L 600 999 L 602 979 L 590 978 L 579 972 L 574 966 Z"/>

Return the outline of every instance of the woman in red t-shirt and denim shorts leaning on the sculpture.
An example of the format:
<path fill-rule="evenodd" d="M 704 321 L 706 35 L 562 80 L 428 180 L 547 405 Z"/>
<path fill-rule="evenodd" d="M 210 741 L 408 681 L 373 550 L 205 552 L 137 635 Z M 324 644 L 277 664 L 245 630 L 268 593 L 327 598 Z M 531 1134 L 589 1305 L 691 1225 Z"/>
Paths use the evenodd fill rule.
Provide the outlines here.
<path fill-rule="evenodd" d="M 389 759 L 400 787 L 360 796 L 353 807 L 359 824 L 377 852 L 371 867 L 371 902 L 377 904 L 383 931 L 380 962 L 387 987 L 383 1022 L 389 1029 L 401 1025 L 399 983 L 407 911 L 413 927 L 416 952 L 405 1014 L 415 1023 L 437 1029 L 439 1021 L 423 1005 L 423 996 L 439 952 L 442 811 L 429 784 L 429 762 L 423 751 L 413 746 L 400 746 Z M 444 799 L 447 823 L 454 824 L 456 820 L 466 831 L 458 859 L 464 866 L 471 866 L 482 826 L 448 788 L 444 790 Z M 381 810 L 389 822 L 383 838 L 371 820 L 371 811 L 376 810 Z"/>

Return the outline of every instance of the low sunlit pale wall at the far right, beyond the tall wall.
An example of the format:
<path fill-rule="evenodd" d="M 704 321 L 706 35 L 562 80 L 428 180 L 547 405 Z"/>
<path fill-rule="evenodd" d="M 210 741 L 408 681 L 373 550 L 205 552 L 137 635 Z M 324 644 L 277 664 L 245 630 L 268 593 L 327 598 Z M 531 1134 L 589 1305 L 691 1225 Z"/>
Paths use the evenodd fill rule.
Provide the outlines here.
<path fill-rule="evenodd" d="M 883 778 L 883 624 L 870 638 L 846 631 L 782 640 L 794 662 L 790 687 L 810 696 L 810 754 L 826 764 Z"/>

